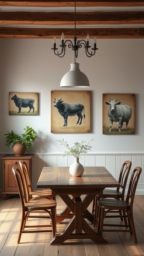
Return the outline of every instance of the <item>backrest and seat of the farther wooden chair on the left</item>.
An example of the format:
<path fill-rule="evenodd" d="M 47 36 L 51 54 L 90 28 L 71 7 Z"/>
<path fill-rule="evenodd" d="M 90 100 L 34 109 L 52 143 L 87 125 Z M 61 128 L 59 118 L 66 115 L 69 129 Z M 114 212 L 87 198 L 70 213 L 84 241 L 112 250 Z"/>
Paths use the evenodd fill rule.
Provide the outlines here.
<path fill-rule="evenodd" d="M 30 181 L 29 170 L 28 170 L 28 166 L 27 166 L 26 162 L 24 160 L 20 160 L 19 165 L 22 169 L 23 175 L 25 174 L 25 176 L 26 176 L 26 182 L 27 182 L 27 186 L 28 186 L 28 190 L 29 190 L 30 199 L 47 198 L 47 199 L 56 200 L 56 197 L 54 195 L 52 195 L 52 190 L 49 188 L 41 189 L 41 190 L 33 190 L 32 184 Z M 28 195 L 28 193 L 27 193 L 27 195 Z M 30 199 L 27 198 L 28 201 Z"/>

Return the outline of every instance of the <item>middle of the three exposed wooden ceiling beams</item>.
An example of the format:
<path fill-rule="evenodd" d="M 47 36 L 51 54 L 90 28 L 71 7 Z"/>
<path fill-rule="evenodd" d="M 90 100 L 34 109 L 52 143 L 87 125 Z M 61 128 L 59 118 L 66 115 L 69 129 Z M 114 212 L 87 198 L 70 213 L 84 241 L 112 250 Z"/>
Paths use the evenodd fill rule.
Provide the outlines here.
<path fill-rule="evenodd" d="M 0 24 L 73 25 L 74 13 L 0 12 Z M 76 24 L 77 25 L 144 24 L 144 12 L 77 13 Z"/>

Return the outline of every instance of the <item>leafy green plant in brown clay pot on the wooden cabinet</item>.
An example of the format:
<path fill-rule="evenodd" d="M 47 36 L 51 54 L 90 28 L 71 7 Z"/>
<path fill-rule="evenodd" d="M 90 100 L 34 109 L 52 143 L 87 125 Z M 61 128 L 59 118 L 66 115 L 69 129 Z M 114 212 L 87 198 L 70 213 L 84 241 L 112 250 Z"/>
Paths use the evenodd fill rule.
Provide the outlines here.
<path fill-rule="evenodd" d="M 21 134 L 21 136 L 15 134 L 13 130 L 11 132 L 8 131 L 8 133 L 4 134 L 6 136 L 5 145 L 10 148 L 11 144 L 13 143 L 12 149 L 16 156 L 23 156 L 26 151 L 26 147 L 29 150 L 29 148 L 32 146 L 32 141 L 34 142 L 36 138 L 36 132 L 34 131 L 34 129 L 32 129 L 32 127 L 26 126 L 24 130 L 25 133 Z"/>

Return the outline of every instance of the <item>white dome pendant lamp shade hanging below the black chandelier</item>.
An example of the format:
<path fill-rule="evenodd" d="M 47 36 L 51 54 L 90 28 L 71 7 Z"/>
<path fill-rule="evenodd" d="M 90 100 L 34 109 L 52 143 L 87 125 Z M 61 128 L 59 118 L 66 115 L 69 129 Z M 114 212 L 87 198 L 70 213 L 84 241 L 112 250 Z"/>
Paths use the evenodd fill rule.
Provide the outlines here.
<path fill-rule="evenodd" d="M 70 66 L 70 71 L 61 79 L 60 87 L 89 87 L 89 80 L 87 76 L 80 71 L 79 63 L 73 62 Z"/>

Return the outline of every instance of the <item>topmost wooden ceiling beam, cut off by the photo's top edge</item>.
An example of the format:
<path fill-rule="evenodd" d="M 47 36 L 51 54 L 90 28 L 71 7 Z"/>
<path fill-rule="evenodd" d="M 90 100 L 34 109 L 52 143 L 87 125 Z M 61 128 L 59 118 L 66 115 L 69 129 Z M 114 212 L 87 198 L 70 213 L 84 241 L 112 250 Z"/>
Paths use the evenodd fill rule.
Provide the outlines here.
<path fill-rule="evenodd" d="M 74 0 L 62 0 L 62 1 L 36 1 L 36 0 L 29 0 L 29 1 L 0 1 L 0 6 L 29 6 L 29 7 L 71 7 L 74 6 Z M 132 1 L 132 0 L 78 0 L 76 1 L 76 6 L 79 7 L 88 7 L 88 6 L 144 6 L 143 0 Z"/>

